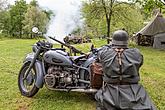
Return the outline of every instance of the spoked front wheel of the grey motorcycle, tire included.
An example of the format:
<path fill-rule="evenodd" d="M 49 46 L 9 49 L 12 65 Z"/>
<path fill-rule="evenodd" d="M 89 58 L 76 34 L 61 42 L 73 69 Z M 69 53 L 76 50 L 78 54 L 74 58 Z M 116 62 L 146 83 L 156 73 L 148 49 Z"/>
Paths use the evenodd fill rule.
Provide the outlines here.
<path fill-rule="evenodd" d="M 34 67 L 28 73 L 27 77 L 24 78 L 24 75 L 25 75 L 26 71 L 28 70 L 29 65 L 30 65 L 30 62 L 25 63 L 22 66 L 22 68 L 19 72 L 19 76 L 18 76 L 19 90 L 20 90 L 21 94 L 26 97 L 34 96 L 39 90 L 39 88 L 37 88 L 35 85 L 37 75 L 36 75 L 36 71 L 35 71 Z"/>

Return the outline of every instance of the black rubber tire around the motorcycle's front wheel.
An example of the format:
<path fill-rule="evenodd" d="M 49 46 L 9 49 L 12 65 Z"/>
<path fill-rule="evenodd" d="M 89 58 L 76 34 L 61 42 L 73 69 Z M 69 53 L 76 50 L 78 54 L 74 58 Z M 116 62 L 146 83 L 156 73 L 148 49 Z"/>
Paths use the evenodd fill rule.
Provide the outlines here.
<path fill-rule="evenodd" d="M 36 71 L 35 71 L 35 67 L 33 67 L 32 68 L 32 70 L 34 70 L 33 72 L 35 73 L 35 75 L 34 76 L 29 76 L 29 77 L 32 77 L 32 79 L 31 80 L 33 80 L 33 81 L 31 81 L 31 83 L 29 84 L 29 86 L 31 86 L 32 85 L 32 88 L 30 89 L 30 90 L 28 90 L 27 89 L 27 87 L 25 87 L 25 80 L 23 79 L 23 77 L 24 77 L 24 74 L 25 74 L 25 72 L 27 71 L 27 69 L 29 68 L 29 65 L 30 65 L 30 62 L 28 62 L 28 63 L 25 63 L 23 66 L 22 66 L 22 68 L 21 68 L 21 70 L 20 70 L 20 72 L 19 72 L 19 75 L 18 75 L 18 87 L 19 87 L 19 90 L 20 90 L 20 92 L 21 92 L 21 94 L 23 95 L 23 96 L 26 96 L 26 97 L 32 97 L 32 96 L 34 96 L 37 92 L 38 92 L 38 90 L 39 90 L 39 88 L 38 87 L 36 87 L 36 85 L 35 85 L 35 79 L 36 79 Z M 32 71 L 31 70 L 31 71 Z M 31 72 L 30 71 L 30 72 Z M 31 74 L 32 74 L 32 72 L 31 72 Z M 26 78 L 26 83 L 28 82 L 27 81 L 28 79 Z M 26 85 L 27 86 L 27 85 Z"/>

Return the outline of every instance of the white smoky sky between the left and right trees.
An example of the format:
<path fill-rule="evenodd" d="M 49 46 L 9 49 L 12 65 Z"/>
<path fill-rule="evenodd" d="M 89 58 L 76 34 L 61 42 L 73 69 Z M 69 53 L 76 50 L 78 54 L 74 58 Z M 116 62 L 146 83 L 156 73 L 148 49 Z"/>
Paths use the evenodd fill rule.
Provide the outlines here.
<path fill-rule="evenodd" d="M 29 3 L 32 0 L 26 0 Z M 77 25 L 80 25 L 80 7 L 81 0 L 37 0 L 40 7 L 52 10 L 55 17 L 52 17 L 48 32 L 46 35 L 53 36 L 62 40 Z M 15 0 L 8 0 L 10 4 L 14 4 Z"/>

